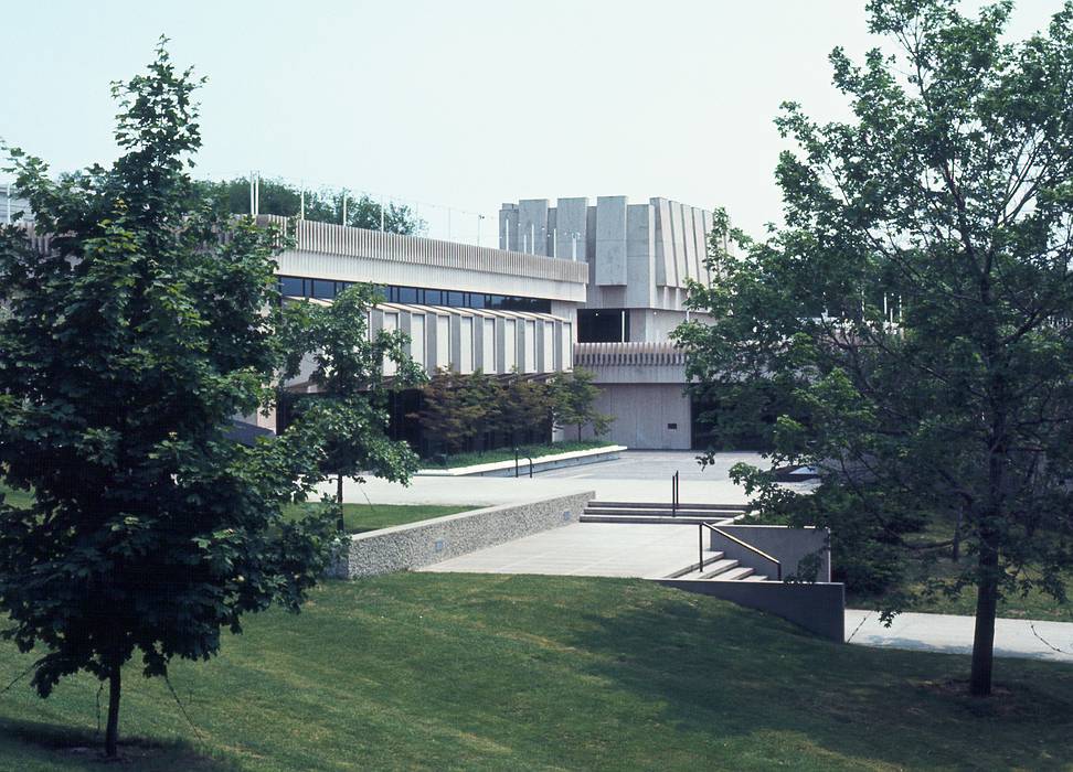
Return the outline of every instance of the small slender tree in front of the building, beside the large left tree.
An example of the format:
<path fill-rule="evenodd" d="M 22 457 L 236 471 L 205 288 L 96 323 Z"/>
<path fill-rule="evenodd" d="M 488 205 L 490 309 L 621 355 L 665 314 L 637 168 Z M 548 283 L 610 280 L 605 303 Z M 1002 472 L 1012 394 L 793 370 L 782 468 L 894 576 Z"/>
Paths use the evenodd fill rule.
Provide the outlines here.
<path fill-rule="evenodd" d="M 344 476 L 360 481 L 359 473 L 368 471 L 405 482 L 418 465 L 417 455 L 405 442 L 387 436 L 389 388 L 383 365 L 394 364 L 391 388 L 417 386 L 425 380 L 425 374 L 405 352 L 405 333 L 381 330 L 370 341 L 369 310 L 380 300 L 376 287 L 359 283 L 340 292 L 329 305 L 298 303 L 302 309 L 301 323 L 295 329 L 304 346 L 312 352 L 309 379 L 318 390 L 315 397 L 299 398 L 295 412 L 300 416 L 304 401 L 312 400 L 331 400 L 343 408 L 338 415 L 344 422 L 332 428 L 323 464 L 325 472 L 336 475 L 336 501 L 340 507 Z M 301 347 L 294 344 L 293 350 Z"/>

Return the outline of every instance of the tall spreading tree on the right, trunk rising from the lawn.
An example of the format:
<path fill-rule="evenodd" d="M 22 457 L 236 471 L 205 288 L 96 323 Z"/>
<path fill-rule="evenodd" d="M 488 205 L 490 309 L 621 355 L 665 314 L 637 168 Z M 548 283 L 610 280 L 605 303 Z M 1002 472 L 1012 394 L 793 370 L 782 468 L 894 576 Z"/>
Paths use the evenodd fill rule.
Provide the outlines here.
<path fill-rule="evenodd" d="M 816 467 L 819 489 L 739 472 L 766 515 L 830 526 L 854 580 L 890 583 L 960 513 L 975 559 L 952 589 L 976 588 L 987 695 L 996 603 L 1062 598 L 1073 562 L 1073 4 L 1020 43 L 1010 3 L 956 6 L 869 3 L 896 55 L 831 54 L 848 122 L 784 105 L 785 227 L 735 232 L 734 255 L 719 218 L 720 280 L 690 298 L 715 321 L 677 336 L 691 377 L 778 394 L 773 464 Z"/>

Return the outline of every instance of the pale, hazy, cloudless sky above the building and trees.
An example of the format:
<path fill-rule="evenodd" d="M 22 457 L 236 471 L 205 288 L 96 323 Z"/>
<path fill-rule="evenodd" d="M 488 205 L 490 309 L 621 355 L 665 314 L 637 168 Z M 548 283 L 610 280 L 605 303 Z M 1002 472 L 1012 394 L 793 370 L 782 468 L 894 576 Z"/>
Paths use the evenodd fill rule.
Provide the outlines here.
<path fill-rule="evenodd" d="M 1061 4 L 1021 0 L 1010 35 Z M 847 117 L 827 56 L 880 42 L 863 0 L 0 0 L 0 139 L 56 172 L 114 160 L 109 83 L 161 34 L 209 78 L 199 176 L 364 191 L 485 246 L 502 202 L 565 196 L 722 206 L 758 235 L 779 104 Z"/>

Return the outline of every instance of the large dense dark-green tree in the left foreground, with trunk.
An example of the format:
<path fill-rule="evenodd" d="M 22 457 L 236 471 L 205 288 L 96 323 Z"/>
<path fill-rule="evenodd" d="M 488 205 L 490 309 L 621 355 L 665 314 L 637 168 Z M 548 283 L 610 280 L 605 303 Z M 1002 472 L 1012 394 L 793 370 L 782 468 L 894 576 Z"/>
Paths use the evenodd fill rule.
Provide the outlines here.
<path fill-rule="evenodd" d="M 326 403 L 252 447 L 233 416 L 275 394 L 294 312 L 280 305 L 278 232 L 199 199 L 192 95 L 161 40 L 148 72 L 114 85 L 121 157 L 53 182 L 11 156 L 46 249 L 0 229 L 0 470 L 30 506 L 0 502 L 0 608 L 19 648 L 45 650 L 46 697 L 86 671 L 109 685 L 115 757 L 121 666 L 146 676 L 208 660 L 221 629 L 278 602 L 297 611 L 330 559 L 334 513 L 283 515 L 322 476 Z M 362 344 L 358 343 L 359 347 Z"/>

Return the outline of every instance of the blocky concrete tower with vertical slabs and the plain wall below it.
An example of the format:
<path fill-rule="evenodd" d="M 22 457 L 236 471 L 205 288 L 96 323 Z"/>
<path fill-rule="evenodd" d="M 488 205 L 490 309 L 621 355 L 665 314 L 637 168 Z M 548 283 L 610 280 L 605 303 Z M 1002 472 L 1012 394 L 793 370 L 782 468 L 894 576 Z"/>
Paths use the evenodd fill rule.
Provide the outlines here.
<path fill-rule="evenodd" d="M 686 361 L 670 332 L 690 318 L 690 281 L 705 265 L 713 214 L 668 199 L 522 200 L 499 212 L 502 248 L 589 268 L 577 310 L 574 362 L 596 375 L 598 407 L 615 416 L 610 439 L 631 448 L 690 449 L 694 407 Z"/>

